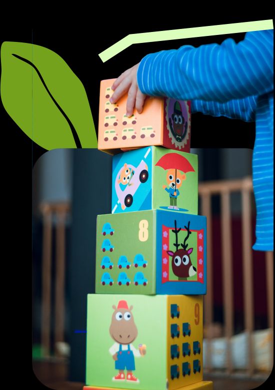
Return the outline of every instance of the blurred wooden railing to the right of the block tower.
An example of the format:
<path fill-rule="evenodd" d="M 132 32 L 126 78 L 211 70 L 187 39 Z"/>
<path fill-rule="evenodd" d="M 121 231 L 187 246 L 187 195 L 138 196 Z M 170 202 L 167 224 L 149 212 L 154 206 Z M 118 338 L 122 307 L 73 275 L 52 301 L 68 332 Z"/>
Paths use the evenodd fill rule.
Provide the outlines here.
<path fill-rule="evenodd" d="M 232 272 L 232 237 L 231 237 L 231 213 L 230 194 L 239 192 L 241 194 L 241 230 L 242 230 L 242 265 L 243 265 L 243 297 L 244 297 L 244 331 L 248 334 L 247 345 L 247 376 L 254 374 L 253 361 L 253 339 L 254 313 L 253 313 L 253 263 L 252 263 L 252 239 L 251 239 L 251 177 L 241 180 L 227 180 L 216 182 L 205 182 L 198 186 L 201 209 L 200 215 L 207 218 L 207 294 L 204 296 L 204 326 L 210 327 L 213 324 L 213 249 L 212 243 L 212 212 L 211 197 L 219 195 L 221 200 L 221 262 L 222 262 L 222 286 L 223 286 L 223 308 L 224 308 L 224 333 L 226 338 L 226 374 L 233 373 L 231 355 L 231 337 L 233 336 L 233 272 Z M 267 317 L 268 327 L 273 330 L 273 253 L 265 252 L 266 285 L 267 296 Z M 206 339 L 207 355 L 206 371 L 212 371 L 211 364 L 211 336 Z M 270 361 L 273 359 L 273 342 Z M 271 365 L 272 367 L 272 365 Z"/>

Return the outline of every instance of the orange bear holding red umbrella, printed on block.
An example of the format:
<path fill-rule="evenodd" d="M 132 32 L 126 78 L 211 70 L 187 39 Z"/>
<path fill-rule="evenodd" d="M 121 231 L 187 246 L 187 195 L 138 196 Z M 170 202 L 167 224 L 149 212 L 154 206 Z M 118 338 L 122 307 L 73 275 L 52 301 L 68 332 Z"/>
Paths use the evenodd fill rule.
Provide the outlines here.
<path fill-rule="evenodd" d="M 162 188 L 169 194 L 170 205 L 168 209 L 179 210 L 176 205 L 179 196 L 179 188 L 186 179 L 187 172 L 194 172 L 194 168 L 187 158 L 177 153 L 167 153 L 162 156 L 155 166 L 163 168 L 166 172 L 166 182 Z M 168 186 L 168 188 L 167 188 Z"/>

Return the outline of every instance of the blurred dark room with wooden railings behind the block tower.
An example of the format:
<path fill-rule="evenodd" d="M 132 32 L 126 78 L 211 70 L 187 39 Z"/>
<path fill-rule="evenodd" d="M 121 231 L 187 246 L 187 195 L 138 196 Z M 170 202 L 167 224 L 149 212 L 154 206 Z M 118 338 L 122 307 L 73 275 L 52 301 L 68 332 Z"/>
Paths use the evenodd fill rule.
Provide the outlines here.
<path fill-rule="evenodd" d="M 204 378 L 214 389 L 252 389 L 273 365 L 273 258 L 251 249 L 252 150 L 191 153 L 207 217 Z M 96 216 L 111 212 L 110 178 L 111 156 L 96 149 L 51 150 L 33 169 L 33 370 L 52 389 L 85 382 L 86 297 Z"/>

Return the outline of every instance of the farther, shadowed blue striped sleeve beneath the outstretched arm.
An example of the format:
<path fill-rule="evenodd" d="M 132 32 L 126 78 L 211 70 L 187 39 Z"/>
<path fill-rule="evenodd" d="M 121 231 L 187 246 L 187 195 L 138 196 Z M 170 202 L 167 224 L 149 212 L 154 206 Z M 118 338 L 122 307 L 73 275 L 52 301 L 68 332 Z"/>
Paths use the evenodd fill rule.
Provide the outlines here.
<path fill-rule="evenodd" d="M 216 101 L 192 100 L 191 112 L 201 112 L 205 115 L 226 116 L 230 119 L 241 119 L 245 122 L 255 121 L 257 96 L 248 96 L 243 99 L 235 99 L 226 103 Z"/>

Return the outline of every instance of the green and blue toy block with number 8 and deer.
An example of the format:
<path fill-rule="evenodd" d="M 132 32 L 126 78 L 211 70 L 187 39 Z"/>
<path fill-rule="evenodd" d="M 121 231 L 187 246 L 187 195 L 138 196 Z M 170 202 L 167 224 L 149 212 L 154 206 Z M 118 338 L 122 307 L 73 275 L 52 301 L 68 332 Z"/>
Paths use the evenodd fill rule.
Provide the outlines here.
<path fill-rule="evenodd" d="M 206 294 L 206 218 L 164 210 L 98 215 L 95 292 Z"/>

